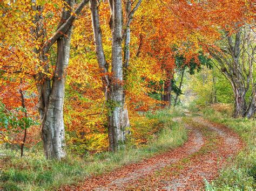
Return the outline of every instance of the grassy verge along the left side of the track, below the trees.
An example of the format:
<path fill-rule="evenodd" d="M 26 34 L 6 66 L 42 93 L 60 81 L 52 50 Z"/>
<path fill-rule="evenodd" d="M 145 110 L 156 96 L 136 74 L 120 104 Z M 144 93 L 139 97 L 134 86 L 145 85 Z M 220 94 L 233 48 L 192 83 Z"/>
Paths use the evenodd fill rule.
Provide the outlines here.
<path fill-rule="evenodd" d="M 126 150 L 89 155 L 81 158 L 69 154 L 63 161 L 45 160 L 42 151 L 27 151 L 26 156 L 4 150 L 3 166 L 0 176 L 0 187 L 4 190 L 51 190 L 65 185 L 76 184 L 92 174 L 110 172 L 126 164 L 138 162 L 153 154 L 177 147 L 186 140 L 186 130 L 182 123 L 172 122 L 172 117 L 180 111 L 157 111 L 146 114 L 149 119 L 157 119 L 163 124 L 158 138 L 143 147 L 127 147 Z M 1 151 L 2 153 L 2 151 Z"/>

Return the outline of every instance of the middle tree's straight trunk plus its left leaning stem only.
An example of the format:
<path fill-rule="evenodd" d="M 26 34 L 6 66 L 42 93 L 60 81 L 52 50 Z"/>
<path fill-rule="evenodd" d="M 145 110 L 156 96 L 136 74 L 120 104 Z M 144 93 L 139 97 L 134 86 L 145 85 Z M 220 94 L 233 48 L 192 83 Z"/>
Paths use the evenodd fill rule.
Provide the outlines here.
<path fill-rule="evenodd" d="M 107 66 L 103 43 L 102 32 L 100 30 L 99 13 L 96 0 L 90 0 L 92 28 L 95 38 L 95 48 L 99 68 L 102 72 L 109 72 Z M 110 27 L 112 33 L 112 56 L 111 56 L 111 73 L 106 76 L 106 84 L 104 94 L 107 100 L 108 115 L 108 135 L 109 135 L 109 151 L 117 151 L 124 145 L 125 136 L 122 126 L 123 120 L 123 56 L 122 56 L 122 1 L 109 1 L 111 18 Z"/>

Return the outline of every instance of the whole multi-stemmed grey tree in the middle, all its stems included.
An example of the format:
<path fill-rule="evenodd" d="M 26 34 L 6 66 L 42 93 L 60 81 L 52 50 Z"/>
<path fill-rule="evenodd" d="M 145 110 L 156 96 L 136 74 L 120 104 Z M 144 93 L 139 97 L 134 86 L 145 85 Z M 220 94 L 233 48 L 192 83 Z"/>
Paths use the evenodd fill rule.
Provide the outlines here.
<path fill-rule="evenodd" d="M 105 1 L 104 1 L 105 2 Z M 124 81 L 130 60 L 130 24 L 134 12 L 138 9 L 142 0 L 131 10 L 131 1 L 125 2 L 126 23 L 123 30 L 122 1 L 109 1 L 110 28 L 112 36 L 111 75 L 109 65 L 106 62 L 102 43 L 102 31 L 100 29 L 98 3 L 90 0 L 93 35 L 95 49 L 102 77 L 105 100 L 108 107 L 108 135 L 109 151 L 119 150 L 125 142 L 125 130 L 130 126 L 128 111 L 125 107 Z M 125 39 L 124 59 L 122 42 Z"/>

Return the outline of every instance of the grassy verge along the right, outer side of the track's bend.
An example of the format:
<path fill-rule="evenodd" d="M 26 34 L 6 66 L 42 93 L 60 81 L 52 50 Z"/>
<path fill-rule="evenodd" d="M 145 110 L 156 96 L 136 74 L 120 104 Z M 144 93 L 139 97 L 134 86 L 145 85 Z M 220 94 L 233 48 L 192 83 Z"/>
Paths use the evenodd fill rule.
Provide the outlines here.
<path fill-rule="evenodd" d="M 231 128 L 246 143 L 246 147 L 235 159 L 221 170 L 217 180 L 206 182 L 207 190 L 254 190 L 256 188 L 256 126 L 253 119 L 234 119 L 226 112 L 204 109 L 206 119 Z"/>

